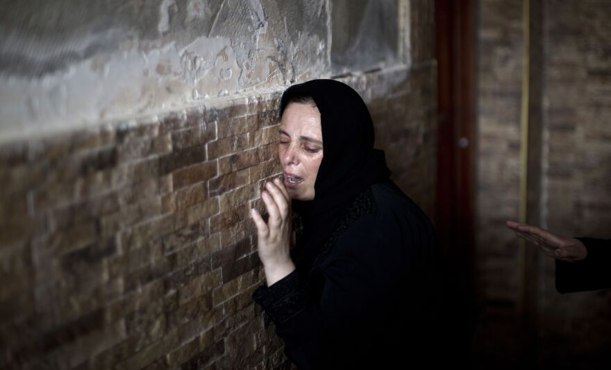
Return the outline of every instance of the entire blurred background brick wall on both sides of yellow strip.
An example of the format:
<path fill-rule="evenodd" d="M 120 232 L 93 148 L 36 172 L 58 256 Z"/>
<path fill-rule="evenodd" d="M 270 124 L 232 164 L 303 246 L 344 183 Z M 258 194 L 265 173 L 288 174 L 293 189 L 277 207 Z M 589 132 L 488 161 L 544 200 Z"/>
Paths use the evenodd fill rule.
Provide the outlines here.
<path fill-rule="evenodd" d="M 611 238 L 611 8 L 605 1 L 541 5 L 542 61 L 531 64 L 543 84 L 542 122 L 533 123 L 543 138 L 537 223 L 565 236 Z M 536 280 L 526 281 L 537 286 L 529 334 L 536 337 L 521 337 L 518 243 L 504 226 L 519 207 L 521 2 L 480 1 L 478 12 L 476 364 L 514 367 L 528 341 L 539 367 L 609 364 L 611 292 L 558 294 L 549 258 L 539 258 Z"/>

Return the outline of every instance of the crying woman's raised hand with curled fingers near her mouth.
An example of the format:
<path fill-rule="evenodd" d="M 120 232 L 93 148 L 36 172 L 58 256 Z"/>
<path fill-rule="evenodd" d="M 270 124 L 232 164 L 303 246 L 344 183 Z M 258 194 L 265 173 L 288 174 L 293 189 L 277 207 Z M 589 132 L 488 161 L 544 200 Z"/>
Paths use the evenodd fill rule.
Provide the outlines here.
<path fill-rule="evenodd" d="M 269 286 L 295 270 L 295 265 L 290 256 L 291 199 L 280 179 L 268 182 L 265 188 L 261 199 L 269 213 L 267 224 L 256 209 L 251 209 L 251 215 L 257 227 L 259 258 Z"/>

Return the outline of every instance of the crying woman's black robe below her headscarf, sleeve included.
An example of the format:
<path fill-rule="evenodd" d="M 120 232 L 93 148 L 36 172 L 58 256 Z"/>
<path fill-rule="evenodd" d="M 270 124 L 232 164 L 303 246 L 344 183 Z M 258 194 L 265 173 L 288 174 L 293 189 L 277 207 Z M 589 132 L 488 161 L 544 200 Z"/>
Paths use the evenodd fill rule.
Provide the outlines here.
<path fill-rule="evenodd" d="M 253 299 L 300 369 L 432 364 L 442 342 L 434 239 L 430 220 L 399 188 L 375 184 L 346 210 L 315 261 Z"/>

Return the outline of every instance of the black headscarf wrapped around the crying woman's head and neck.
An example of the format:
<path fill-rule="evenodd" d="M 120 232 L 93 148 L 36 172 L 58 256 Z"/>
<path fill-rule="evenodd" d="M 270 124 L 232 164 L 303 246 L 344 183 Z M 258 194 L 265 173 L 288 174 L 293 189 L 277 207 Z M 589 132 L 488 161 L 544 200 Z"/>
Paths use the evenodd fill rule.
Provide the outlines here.
<path fill-rule="evenodd" d="M 348 85 L 335 80 L 311 80 L 289 87 L 280 114 L 291 96 L 311 96 L 320 112 L 323 159 L 316 177 L 315 198 L 293 200 L 303 221 L 303 247 L 308 254 L 324 244 L 343 211 L 372 184 L 390 176 L 384 152 L 374 149 L 374 123 L 367 105 Z"/>

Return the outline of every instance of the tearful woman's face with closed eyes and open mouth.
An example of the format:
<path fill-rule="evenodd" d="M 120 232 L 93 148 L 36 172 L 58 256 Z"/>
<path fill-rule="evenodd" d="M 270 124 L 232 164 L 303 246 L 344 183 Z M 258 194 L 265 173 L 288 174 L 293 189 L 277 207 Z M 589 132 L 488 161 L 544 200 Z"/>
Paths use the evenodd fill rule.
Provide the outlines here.
<path fill-rule="evenodd" d="M 301 103 L 287 105 L 280 125 L 278 157 L 290 197 L 314 199 L 314 184 L 322 161 L 322 129 L 317 107 Z"/>

